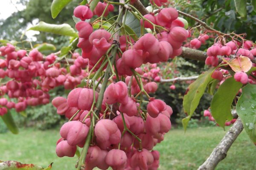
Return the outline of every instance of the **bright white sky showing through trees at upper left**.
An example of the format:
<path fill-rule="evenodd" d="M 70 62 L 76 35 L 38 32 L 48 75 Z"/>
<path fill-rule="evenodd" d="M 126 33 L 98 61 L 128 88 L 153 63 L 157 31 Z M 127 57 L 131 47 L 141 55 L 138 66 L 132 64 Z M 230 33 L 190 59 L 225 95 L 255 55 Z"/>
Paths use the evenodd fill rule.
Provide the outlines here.
<path fill-rule="evenodd" d="M 6 19 L 14 12 L 22 11 L 26 8 L 26 6 L 23 6 L 22 4 L 17 4 L 18 0 L 0 0 L 0 19 Z M 38 23 L 38 20 L 33 20 L 32 24 L 35 25 Z M 28 25 L 28 28 L 32 26 L 32 24 Z M 34 37 L 35 34 L 39 34 L 38 31 L 26 31 L 27 40 L 30 41 L 36 41 L 36 37 Z"/>

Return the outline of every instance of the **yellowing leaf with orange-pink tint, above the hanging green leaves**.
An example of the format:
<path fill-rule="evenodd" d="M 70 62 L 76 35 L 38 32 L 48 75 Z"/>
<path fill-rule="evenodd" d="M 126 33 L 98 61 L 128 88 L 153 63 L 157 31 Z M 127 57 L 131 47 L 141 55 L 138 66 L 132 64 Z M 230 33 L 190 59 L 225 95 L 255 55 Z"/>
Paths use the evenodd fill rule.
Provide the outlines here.
<path fill-rule="evenodd" d="M 224 59 L 223 59 L 224 60 Z M 248 57 L 240 56 L 235 59 L 232 59 L 231 61 L 226 61 L 228 65 L 231 67 L 231 69 L 235 72 L 244 71 L 247 72 L 252 68 L 253 63 Z"/>

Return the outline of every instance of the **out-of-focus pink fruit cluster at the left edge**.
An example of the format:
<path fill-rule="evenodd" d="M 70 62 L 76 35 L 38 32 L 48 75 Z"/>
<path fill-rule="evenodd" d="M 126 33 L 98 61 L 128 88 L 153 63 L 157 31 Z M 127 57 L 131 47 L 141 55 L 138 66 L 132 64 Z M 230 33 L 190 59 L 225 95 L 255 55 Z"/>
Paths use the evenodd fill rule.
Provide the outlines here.
<path fill-rule="evenodd" d="M 73 89 L 88 75 L 81 70 L 87 67 L 88 59 L 77 53 L 73 55 L 74 65 L 70 66 L 68 73 L 56 62 L 55 54 L 44 57 L 37 49 L 27 54 L 26 50 L 16 51 L 9 43 L 0 47 L 0 52 L 3 57 L 0 59 L 0 78 L 3 81 L 0 86 L 0 95 L 3 96 L 0 98 L 1 115 L 7 113 L 7 108 L 20 112 L 27 106 L 45 105 L 49 103 L 50 89 L 60 85 Z"/>

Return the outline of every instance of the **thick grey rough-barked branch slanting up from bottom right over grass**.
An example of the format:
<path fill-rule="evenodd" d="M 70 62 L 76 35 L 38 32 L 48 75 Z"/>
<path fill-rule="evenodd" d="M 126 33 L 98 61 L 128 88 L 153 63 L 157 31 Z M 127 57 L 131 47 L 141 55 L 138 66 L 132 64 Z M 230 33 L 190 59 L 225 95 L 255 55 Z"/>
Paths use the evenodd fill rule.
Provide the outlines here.
<path fill-rule="evenodd" d="M 227 151 L 230 149 L 243 128 L 241 119 L 238 118 L 221 142 L 214 148 L 209 158 L 198 168 L 198 170 L 214 170 L 217 164 L 227 156 Z"/>

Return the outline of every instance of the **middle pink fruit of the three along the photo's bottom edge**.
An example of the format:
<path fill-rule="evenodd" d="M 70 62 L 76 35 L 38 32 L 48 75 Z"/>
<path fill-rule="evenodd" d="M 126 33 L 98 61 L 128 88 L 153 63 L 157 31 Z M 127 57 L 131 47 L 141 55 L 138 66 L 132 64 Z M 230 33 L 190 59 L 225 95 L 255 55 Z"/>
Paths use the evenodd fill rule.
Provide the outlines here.
<path fill-rule="evenodd" d="M 112 149 L 106 156 L 106 163 L 113 168 L 113 170 L 122 170 L 125 168 L 127 156 L 124 151 L 119 149 Z"/>

